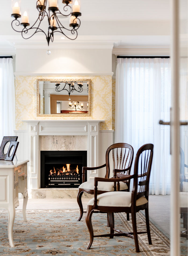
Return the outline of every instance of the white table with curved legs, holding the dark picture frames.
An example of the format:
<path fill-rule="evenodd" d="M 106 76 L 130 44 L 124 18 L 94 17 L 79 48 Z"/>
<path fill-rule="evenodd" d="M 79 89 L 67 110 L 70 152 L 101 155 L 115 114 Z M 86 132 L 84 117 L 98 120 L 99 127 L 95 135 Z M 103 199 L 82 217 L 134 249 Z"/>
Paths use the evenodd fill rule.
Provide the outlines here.
<path fill-rule="evenodd" d="M 23 194 L 23 218 L 26 219 L 27 195 L 27 162 L 29 160 L 0 161 L 0 208 L 9 212 L 8 237 L 11 247 L 13 242 L 13 224 L 15 207 L 19 206 L 18 193 Z"/>

